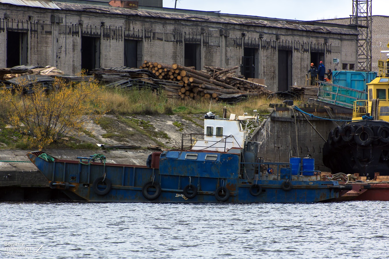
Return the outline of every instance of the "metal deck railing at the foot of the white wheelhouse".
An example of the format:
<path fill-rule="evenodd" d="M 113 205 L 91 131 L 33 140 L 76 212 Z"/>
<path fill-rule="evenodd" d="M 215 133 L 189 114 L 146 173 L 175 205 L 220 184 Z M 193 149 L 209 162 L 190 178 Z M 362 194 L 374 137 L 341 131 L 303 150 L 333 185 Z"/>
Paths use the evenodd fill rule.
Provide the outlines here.
<path fill-rule="evenodd" d="M 219 139 L 212 140 L 210 138 L 205 139 L 206 137 L 213 137 L 216 136 Z M 189 134 L 182 134 L 181 139 L 181 149 L 191 149 L 196 144 L 196 148 L 200 148 L 199 150 L 204 150 L 207 148 L 218 148 L 223 149 L 219 150 L 221 152 L 227 151 L 227 144 L 236 142 L 233 135 L 225 136 L 225 135 L 207 135 L 207 134 L 198 134 L 198 133 L 189 133 Z"/>

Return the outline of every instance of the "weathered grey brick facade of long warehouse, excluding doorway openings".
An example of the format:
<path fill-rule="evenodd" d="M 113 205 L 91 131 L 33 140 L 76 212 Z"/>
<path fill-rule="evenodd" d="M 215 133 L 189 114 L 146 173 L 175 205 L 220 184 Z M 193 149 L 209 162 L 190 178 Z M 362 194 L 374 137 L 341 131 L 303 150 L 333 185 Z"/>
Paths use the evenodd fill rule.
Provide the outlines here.
<path fill-rule="evenodd" d="M 264 78 L 272 91 L 278 90 L 279 49 L 292 51 L 292 84 L 298 85 L 305 85 L 310 52 L 315 46 L 321 46 L 320 51 L 325 53 L 326 68 L 331 68 L 334 57 L 341 56 L 355 63 L 357 59 L 356 35 L 351 30 L 334 33 L 321 26 L 312 29 L 311 25 L 309 30 L 303 26 L 292 30 L 282 22 L 279 26 L 266 26 L 258 19 L 252 23 L 238 19 L 226 23 L 225 20 L 211 22 L 198 15 L 196 19 L 180 16 L 164 19 L 153 15 L 118 14 L 118 9 L 113 7 L 96 7 L 97 12 L 74 10 L 76 7 L 72 5 L 67 8 L 58 10 L 0 3 L 0 17 L 5 17 L 3 14 L 8 17 L 0 19 L 0 67 L 6 66 L 6 35 L 10 30 L 28 33 L 29 65 L 56 66 L 69 75 L 81 70 L 82 36 L 100 38 L 100 66 L 103 68 L 123 66 L 124 39 L 142 42 L 138 66 L 143 60 L 183 64 L 185 43 L 199 43 L 201 67 L 229 68 L 242 63 L 245 47 L 254 48 L 259 53 L 255 77 Z M 105 10 L 115 13 L 108 14 L 110 11 Z M 51 21 L 52 15 L 58 20 Z"/>

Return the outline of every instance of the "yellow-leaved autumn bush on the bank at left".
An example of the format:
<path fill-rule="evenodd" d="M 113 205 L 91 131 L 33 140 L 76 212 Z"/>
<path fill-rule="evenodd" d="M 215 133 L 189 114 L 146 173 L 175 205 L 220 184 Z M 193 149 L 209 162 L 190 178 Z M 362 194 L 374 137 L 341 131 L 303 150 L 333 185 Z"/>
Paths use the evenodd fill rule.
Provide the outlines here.
<path fill-rule="evenodd" d="M 2 103 L 9 103 L 10 123 L 26 132 L 31 147 L 44 146 L 66 136 L 91 116 L 98 116 L 105 107 L 101 98 L 102 87 L 94 80 L 65 82 L 55 78 L 53 89 L 47 90 L 38 82 L 30 88 L 19 80 L 13 90 L 2 89 Z M 28 92 L 33 92 L 26 94 Z"/>

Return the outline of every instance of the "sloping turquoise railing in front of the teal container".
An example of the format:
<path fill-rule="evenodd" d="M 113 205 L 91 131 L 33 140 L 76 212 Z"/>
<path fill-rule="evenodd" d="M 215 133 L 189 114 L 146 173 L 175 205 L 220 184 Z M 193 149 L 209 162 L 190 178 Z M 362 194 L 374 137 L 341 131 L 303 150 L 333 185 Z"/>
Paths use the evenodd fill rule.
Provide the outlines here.
<path fill-rule="evenodd" d="M 318 81 L 317 100 L 352 108 L 355 101 L 367 98 L 367 92 L 329 82 Z"/>

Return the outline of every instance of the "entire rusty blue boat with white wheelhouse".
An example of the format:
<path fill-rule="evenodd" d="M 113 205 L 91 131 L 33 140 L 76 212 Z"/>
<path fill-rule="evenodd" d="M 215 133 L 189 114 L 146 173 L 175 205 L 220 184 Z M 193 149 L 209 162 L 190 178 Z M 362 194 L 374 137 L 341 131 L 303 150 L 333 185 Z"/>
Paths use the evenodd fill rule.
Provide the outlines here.
<path fill-rule="evenodd" d="M 181 146 L 154 152 L 146 165 L 105 162 L 105 156 L 65 160 L 43 151 L 28 158 L 75 201 L 89 202 L 261 202 L 313 203 L 347 192 L 337 181 L 300 164 L 263 162 L 247 126 L 258 115 L 219 118 L 207 113 L 204 134 L 182 134 Z M 297 169 L 296 169 L 297 168 Z"/>

